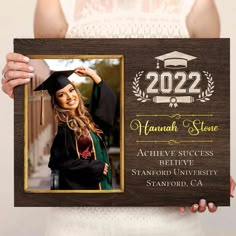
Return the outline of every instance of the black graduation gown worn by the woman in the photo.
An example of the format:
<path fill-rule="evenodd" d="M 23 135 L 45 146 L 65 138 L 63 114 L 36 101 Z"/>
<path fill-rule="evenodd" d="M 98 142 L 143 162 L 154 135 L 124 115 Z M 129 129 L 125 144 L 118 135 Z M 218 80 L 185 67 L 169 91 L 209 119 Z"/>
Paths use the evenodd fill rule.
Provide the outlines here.
<path fill-rule="evenodd" d="M 92 116 L 109 127 L 114 121 L 115 110 L 116 97 L 113 91 L 103 81 L 95 85 L 92 96 Z M 104 142 L 100 138 L 99 140 L 100 148 L 104 150 L 106 148 Z M 48 166 L 52 170 L 59 170 L 59 189 L 99 189 L 99 183 L 104 178 L 105 163 L 95 159 L 80 159 L 74 131 L 66 124 L 58 126 Z"/>

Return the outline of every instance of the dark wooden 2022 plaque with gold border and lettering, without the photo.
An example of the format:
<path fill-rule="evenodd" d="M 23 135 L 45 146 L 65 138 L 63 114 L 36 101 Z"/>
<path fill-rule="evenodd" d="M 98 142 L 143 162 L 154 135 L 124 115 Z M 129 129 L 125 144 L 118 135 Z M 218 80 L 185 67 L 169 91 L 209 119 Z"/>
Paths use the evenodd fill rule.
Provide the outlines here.
<path fill-rule="evenodd" d="M 30 85 L 17 87 L 15 206 L 229 206 L 229 39 L 15 39 L 14 51 L 119 60 L 121 124 L 117 189 L 29 188 Z"/>

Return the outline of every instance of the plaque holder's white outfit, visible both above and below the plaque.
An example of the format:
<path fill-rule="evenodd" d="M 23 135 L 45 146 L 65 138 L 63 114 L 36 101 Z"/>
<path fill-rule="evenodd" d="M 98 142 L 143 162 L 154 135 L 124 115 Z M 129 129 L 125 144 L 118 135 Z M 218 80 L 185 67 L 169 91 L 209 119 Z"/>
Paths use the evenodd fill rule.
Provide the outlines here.
<path fill-rule="evenodd" d="M 67 38 L 186 38 L 194 0 L 75 0 Z M 68 1 L 67 1 L 68 3 Z M 167 7 L 167 4 L 168 7 Z M 158 197 L 158 196 L 156 196 Z M 201 236 L 197 214 L 177 207 L 52 208 L 47 236 Z"/>

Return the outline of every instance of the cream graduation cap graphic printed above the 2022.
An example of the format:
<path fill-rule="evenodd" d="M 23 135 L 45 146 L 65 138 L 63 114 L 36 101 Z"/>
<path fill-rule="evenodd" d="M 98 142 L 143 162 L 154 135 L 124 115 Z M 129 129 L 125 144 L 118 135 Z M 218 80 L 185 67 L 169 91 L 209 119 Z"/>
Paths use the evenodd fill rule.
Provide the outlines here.
<path fill-rule="evenodd" d="M 197 57 L 178 52 L 173 51 L 158 57 L 155 57 L 157 59 L 157 65 L 159 65 L 159 60 L 164 62 L 164 67 L 168 69 L 183 69 L 188 67 L 188 62 L 191 60 L 196 59 Z"/>

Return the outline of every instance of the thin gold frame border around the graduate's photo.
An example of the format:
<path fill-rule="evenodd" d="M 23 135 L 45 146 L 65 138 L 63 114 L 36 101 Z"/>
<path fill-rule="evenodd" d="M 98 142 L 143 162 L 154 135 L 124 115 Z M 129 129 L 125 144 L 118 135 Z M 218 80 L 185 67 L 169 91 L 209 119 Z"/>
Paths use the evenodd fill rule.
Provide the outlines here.
<path fill-rule="evenodd" d="M 118 190 L 37 190 L 28 189 L 28 85 L 24 86 L 24 192 L 25 193 L 123 193 L 124 192 L 124 55 L 27 55 L 30 59 L 120 59 L 120 189 Z"/>

